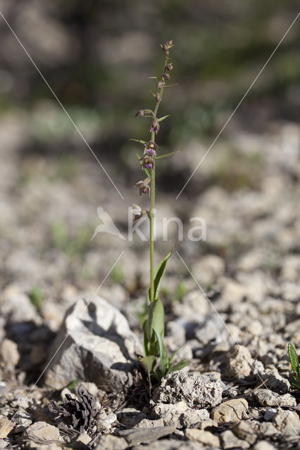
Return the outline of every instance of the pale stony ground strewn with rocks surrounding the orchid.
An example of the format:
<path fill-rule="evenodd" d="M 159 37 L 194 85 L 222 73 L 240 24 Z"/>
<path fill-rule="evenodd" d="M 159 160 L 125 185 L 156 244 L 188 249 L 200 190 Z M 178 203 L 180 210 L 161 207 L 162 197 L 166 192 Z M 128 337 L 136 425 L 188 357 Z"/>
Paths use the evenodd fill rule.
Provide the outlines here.
<path fill-rule="evenodd" d="M 99 205 L 126 233 L 137 180 L 108 165 L 123 201 L 92 156 L 21 151 L 26 120 L 0 127 L 0 448 L 300 448 L 287 358 L 290 340 L 300 348 L 299 127 L 232 127 L 178 200 L 177 174 L 207 146 L 182 143 L 170 160 L 158 217 L 185 227 L 182 242 L 173 229 L 166 243 L 158 222 L 158 255 L 174 242 L 181 257 L 161 291 L 165 343 L 191 364 L 146 389 L 135 363 L 146 245 L 91 241 Z M 206 242 L 187 240 L 196 216 Z"/>

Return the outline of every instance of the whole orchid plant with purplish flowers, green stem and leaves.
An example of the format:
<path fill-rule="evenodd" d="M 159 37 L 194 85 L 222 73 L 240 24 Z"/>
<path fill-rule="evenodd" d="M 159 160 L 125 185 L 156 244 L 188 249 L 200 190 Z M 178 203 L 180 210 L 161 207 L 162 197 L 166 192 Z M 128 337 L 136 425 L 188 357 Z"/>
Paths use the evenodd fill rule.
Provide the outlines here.
<path fill-rule="evenodd" d="M 148 307 L 146 319 L 143 323 L 144 331 L 144 357 L 140 359 L 140 363 L 144 368 L 144 371 L 149 375 L 149 378 L 156 378 L 158 382 L 167 373 L 173 371 L 179 371 L 189 364 L 189 361 L 180 361 L 177 364 L 173 364 L 173 359 L 177 351 L 169 358 L 167 349 L 163 342 L 165 335 L 164 326 L 164 309 L 163 303 L 159 296 L 159 288 L 163 274 L 165 273 L 165 267 L 168 260 L 172 256 L 173 251 L 170 251 L 168 255 L 161 261 L 156 268 L 154 268 L 154 208 L 155 208 L 155 174 L 157 161 L 173 155 L 177 152 L 166 153 L 159 155 L 158 145 L 156 143 L 156 136 L 161 128 L 161 122 L 165 120 L 169 115 L 158 117 L 158 108 L 163 99 L 163 91 L 165 88 L 170 88 L 174 84 L 168 84 L 170 81 L 170 72 L 173 70 L 173 63 L 170 62 L 170 49 L 173 47 L 173 41 L 167 41 L 161 45 L 161 49 L 165 54 L 165 61 L 163 65 L 163 73 L 156 77 L 150 77 L 156 79 L 156 93 L 153 93 L 155 99 L 154 110 L 144 109 L 139 110 L 136 117 L 149 117 L 151 125 L 149 133 L 151 139 L 149 141 L 142 141 L 141 139 L 131 139 L 137 141 L 144 146 L 144 153 L 142 156 L 138 156 L 139 164 L 142 167 L 144 176 L 146 178 L 138 181 L 135 186 L 139 188 L 139 195 L 149 195 L 151 199 L 151 205 L 149 210 L 142 210 L 138 205 L 133 205 L 132 214 L 134 220 L 140 219 L 144 214 L 147 215 L 150 224 L 150 239 L 149 239 L 149 253 L 150 253 L 150 287 L 148 290 Z"/>

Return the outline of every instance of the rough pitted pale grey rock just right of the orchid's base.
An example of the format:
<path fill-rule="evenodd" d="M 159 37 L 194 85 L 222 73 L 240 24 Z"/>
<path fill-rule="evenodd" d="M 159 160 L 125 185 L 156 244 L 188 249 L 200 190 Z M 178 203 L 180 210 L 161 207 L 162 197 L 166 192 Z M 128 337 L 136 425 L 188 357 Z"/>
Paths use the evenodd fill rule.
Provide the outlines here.
<path fill-rule="evenodd" d="M 176 404 L 185 400 L 191 408 L 215 406 L 222 401 L 222 386 L 214 373 L 173 372 L 154 391 L 156 403 Z"/>

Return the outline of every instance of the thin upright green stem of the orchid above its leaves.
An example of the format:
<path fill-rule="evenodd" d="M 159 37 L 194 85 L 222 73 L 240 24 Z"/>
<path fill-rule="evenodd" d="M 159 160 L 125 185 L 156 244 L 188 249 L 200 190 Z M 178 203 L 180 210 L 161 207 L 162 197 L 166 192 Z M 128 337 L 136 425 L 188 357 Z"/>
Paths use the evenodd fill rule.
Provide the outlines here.
<path fill-rule="evenodd" d="M 163 66 L 163 72 L 165 72 L 165 66 L 168 64 L 168 56 L 165 56 L 165 65 Z M 163 87 L 159 89 L 161 94 L 161 100 L 163 98 Z M 161 101 L 156 101 L 153 120 L 157 117 L 158 107 Z M 155 133 L 151 132 L 151 141 L 155 142 Z M 151 169 L 151 210 L 149 214 L 150 221 L 150 302 L 156 300 L 154 297 L 154 207 L 155 207 L 155 163 L 153 169 Z"/>

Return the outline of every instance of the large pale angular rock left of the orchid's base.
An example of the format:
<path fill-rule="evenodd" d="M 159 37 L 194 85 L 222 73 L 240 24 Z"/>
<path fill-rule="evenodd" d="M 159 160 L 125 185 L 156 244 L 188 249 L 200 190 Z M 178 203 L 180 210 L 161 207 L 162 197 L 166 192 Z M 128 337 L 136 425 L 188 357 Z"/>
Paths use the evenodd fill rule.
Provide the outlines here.
<path fill-rule="evenodd" d="M 137 345 L 118 309 L 101 297 L 89 303 L 78 300 L 67 311 L 54 342 L 45 383 L 61 389 L 72 380 L 83 380 L 122 391 L 132 384 Z"/>

